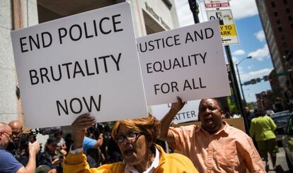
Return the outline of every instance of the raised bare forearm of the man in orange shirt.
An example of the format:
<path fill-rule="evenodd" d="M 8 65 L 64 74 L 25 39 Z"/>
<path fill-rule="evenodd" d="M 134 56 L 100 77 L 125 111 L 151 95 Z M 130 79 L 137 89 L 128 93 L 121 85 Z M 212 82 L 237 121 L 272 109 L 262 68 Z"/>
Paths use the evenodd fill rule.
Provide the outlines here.
<path fill-rule="evenodd" d="M 161 119 L 161 134 L 159 139 L 162 141 L 167 141 L 169 143 L 174 143 L 173 133 L 169 130 L 169 126 L 173 121 L 176 114 L 183 108 L 185 102 L 182 102 L 180 97 L 177 97 L 178 102 L 172 103 L 169 112 Z"/>

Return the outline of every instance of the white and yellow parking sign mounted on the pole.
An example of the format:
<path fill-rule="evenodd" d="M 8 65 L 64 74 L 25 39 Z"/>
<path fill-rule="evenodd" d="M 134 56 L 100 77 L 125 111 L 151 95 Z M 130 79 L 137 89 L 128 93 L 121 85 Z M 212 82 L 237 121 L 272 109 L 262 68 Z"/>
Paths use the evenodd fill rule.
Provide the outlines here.
<path fill-rule="evenodd" d="M 209 20 L 219 19 L 219 29 L 223 44 L 239 44 L 231 10 L 207 11 L 207 18 Z"/>

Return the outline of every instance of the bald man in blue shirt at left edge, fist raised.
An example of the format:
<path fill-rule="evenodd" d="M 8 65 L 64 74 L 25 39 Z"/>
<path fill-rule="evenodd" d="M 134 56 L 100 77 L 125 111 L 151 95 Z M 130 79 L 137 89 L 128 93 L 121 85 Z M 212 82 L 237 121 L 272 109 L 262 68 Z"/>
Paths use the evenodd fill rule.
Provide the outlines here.
<path fill-rule="evenodd" d="M 8 124 L 0 122 L 0 170 L 1 172 L 35 172 L 35 156 L 40 150 L 38 141 L 28 143 L 29 160 L 28 165 L 23 167 L 20 162 L 16 160 L 11 153 L 6 150 L 6 147 L 11 141 L 12 130 Z"/>

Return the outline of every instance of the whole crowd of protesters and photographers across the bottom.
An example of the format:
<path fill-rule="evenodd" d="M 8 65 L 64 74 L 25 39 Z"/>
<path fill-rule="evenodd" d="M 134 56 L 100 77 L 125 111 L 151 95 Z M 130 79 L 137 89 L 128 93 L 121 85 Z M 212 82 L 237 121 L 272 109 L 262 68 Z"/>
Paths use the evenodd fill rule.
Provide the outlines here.
<path fill-rule="evenodd" d="M 31 134 L 25 136 L 28 143 L 23 147 L 21 121 L 1 122 L 0 172 L 35 172 L 41 166 L 53 173 L 265 172 L 268 153 L 275 169 L 276 125 L 262 110 L 255 109 L 252 114 L 246 109 L 250 137 L 226 123 L 217 99 L 201 100 L 200 126 L 171 126 L 184 105 L 178 97 L 161 121 L 149 114 L 116 121 L 112 128 L 97 124 L 90 114 L 82 114 L 71 124 L 72 133 L 64 138 L 62 131 L 50 135 L 42 151 Z M 159 140 L 168 142 L 176 153 L 158 145 Z"/>

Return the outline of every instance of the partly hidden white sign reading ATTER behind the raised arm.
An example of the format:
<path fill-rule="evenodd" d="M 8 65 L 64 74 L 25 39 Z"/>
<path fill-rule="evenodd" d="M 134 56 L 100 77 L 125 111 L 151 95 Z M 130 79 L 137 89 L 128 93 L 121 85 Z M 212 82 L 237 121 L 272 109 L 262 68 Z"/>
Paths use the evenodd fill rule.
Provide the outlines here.
<path fill-rule="evenodd" d="M 176 114 L 174 117 L 174 123 L 184 123 L 189 121 L 197 121 L 198 120 L 198 106 L 200 105 L 200 100 L 192 100 L 186 102 L 184 107 Z M 166 113 L 171 109 L 171 104 L 164 105 L 154 105 L 151 106 L 151 113 L 157 119 L 161 120 Z"/>

